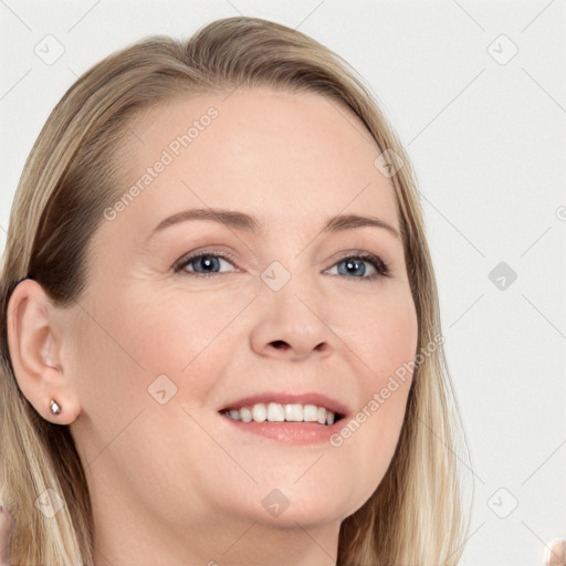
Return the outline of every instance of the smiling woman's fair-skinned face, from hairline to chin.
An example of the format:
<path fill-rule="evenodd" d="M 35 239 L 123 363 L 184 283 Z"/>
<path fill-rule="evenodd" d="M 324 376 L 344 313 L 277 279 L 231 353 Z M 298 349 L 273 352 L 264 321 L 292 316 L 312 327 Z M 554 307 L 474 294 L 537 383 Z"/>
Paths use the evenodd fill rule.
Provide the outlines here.
<path fill-rule="evenodd" d="M 95 514 L 143 511 L 169 533 L 339 523 L 390 463 L 410 374 L 380 391 L 417 347 L 400 238 L 353 218 L 325 230 L 355 214 L 399 231 L 380 151 L 336 103 L 263 90 L 177 101 L 130 132 L 67 350 Z M 344 418 L 221 412 L 260 401 Z"/>

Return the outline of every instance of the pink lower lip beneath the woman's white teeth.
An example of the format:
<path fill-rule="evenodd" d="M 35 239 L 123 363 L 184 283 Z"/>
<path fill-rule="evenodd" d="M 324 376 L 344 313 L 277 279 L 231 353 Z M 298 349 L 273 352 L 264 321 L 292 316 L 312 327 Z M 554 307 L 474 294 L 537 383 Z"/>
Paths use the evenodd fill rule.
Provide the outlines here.
<path fill-rule="evenodd" d="M 333 424 L 319 424 L 318 422 L 243 422 L 220 413 L 223 420 L 229 421 L 237 430 L 250 432 L 260 437 L 279 440 L 286 444 L 319 444 L 329 442 L 331 437 L 343 427 L 343 420 Z"/>

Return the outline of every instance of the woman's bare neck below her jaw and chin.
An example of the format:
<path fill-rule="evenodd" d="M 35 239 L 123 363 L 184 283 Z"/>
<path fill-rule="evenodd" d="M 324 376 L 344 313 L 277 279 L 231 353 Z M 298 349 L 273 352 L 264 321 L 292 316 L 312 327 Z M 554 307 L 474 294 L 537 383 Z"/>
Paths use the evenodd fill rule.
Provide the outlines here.
<path fill-rule="evenodd" d="M 285 513 L 242 517 L 222 511 L 181 522 L 115 493 L 93 497 L 94 566 L 336 565 L 340 521 L 301 524 Z"/>

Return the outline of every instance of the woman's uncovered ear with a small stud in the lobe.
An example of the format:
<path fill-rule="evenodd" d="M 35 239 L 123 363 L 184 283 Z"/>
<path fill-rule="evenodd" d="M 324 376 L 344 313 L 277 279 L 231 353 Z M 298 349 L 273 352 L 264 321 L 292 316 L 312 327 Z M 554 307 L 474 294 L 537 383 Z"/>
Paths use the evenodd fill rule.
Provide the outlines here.
<path fill-rule="evenodd" d="M 80 413 L 80 403 L 63 359 L 64 316 L 43 287 L 27 279 L 8 302 L 8 346 L 15 380 L 24 397 L 46 420 L 70 424 Z M 66 349 L 65 349 L 66 352 Z M 51 411 L 51 399 L 61 408 Z"/>

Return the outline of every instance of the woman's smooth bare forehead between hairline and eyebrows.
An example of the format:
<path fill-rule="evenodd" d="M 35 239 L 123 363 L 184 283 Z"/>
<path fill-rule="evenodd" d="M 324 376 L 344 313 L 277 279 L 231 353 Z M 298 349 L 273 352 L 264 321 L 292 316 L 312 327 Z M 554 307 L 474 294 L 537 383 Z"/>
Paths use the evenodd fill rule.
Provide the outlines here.
<path fill-rule="evenodd" d="M 399 227 L 390 180 L 374 165 L 380 150 L 336 101 L 258 88 L 206 95 L 154 108 L 132 129 L 122 192 L 142 189 L 126 213 L 146 229 L 193 207 L 245 210 L 270 226 L 373 213 Z"/>

